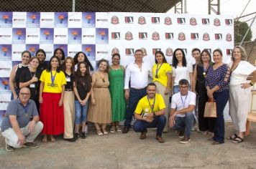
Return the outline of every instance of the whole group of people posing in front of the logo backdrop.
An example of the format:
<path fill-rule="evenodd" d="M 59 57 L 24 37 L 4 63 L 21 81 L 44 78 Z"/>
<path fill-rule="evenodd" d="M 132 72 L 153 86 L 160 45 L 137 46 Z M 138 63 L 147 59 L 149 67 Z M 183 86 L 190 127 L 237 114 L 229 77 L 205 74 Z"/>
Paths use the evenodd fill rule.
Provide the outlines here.
<path fill-rule="evenodd" d="M 213 135 L 212 144 L 217 145 L 224 143 L 223 112 L 228 101 L 235 132 L 227 139 L 242 143 L 256 68 L 244 61 L 242 47 L 234 47 L 230 64 L 224 64 L 220 49 L 213 52 L 214 63 L 208 50 L 193 49 L 192 56 L 196 60 L 193 65 L 186 61 L 183 49 L 175 49 L 170 65 L 163 52 L 157 51 L 150 67 L 143 61 L 142 50 L 137 49 L 134 62 L 127 67 L 120 65 L 121 57 L 116 53 L 111 65 L 101 59 L 99 69 L 93 72 L 83 52 L 72 58 L 55 49 L 47 64 L 43 49 L 35 57 L 24 51 L 22 63 L 13 67 L 9 78 L 12 101 L 1 124 L 6 150 L 37 147 L 33 141 L 40 132 L 42 142 L 54 142 L 55 135 L 61 134 L 70 142 L 84 139 L 87 122 L 93 122 L 97 135 L 127 133 L 132 117 L 140 139 L 147 137 L 147 128 L 157 127 L 156 140 L 165 143 L 162 133 L 173 127 L 182 137 L 180 143 L 188 143 L 191 128 L 198 121 L 199 130 Z M 250 82 L 249 74 L 253 74 Z M 209 99 L 216 102 L 216 118 L 204 117 Z M 123 120 L 122 130 L 119 122 Z"/>

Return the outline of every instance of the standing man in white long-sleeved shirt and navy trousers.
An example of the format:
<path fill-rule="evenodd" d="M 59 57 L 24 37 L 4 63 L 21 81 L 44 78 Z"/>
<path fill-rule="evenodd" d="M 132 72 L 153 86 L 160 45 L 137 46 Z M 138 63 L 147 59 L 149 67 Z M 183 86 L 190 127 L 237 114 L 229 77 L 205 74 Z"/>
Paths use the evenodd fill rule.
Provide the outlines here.
<path fill-rule="evenodd" d="M 143 52 L 141 49 L 135 51 L 134 58 L 135 62 L 128 64 L 125 70 L 124 97 L 128 101 L 128 107 L 123 133 L 129 132 L 137 103 L 142 97 L 147 95 L 148 76 L 151 72 L 150 64 L 142 61 Z"/>

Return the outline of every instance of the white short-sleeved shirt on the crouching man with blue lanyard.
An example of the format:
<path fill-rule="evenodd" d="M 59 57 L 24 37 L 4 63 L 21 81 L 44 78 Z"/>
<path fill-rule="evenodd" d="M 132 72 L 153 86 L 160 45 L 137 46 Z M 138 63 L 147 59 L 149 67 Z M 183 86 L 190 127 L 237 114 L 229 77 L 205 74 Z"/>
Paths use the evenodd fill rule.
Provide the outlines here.
<path fill-rule="evenodd" d="M 174 94 L 172 97 L 172 103 L 170 104 L 170 107 L 175 110 L 182 110 L 184 108 L 187 108 L 188 105 L 196 105 L 196 93 L 188 91 L 188 95 L 186 96 L 181 96 L 180 92 Z M 185 117 L 185 115 L 180 114 L 178 114 L 177 116 Z"/>

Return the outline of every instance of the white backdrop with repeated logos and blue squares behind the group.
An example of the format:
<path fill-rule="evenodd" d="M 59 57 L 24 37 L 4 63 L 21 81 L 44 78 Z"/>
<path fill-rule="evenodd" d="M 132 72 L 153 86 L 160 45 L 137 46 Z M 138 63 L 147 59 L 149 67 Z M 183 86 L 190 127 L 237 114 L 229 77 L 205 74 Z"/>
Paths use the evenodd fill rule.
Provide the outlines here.
<path fill-rule="evenodd" d="M 96 67 L 101 58 L 121 55 L 124 66 L 143 49 L 145 61 L 153 64 L 157 50 L 171 64 L 176 48 L 184 49 L 194 62 L 191 49 L 220 48 L 228 62 L 234 47 L 232 16 L 102 12 L 0 12 L 0 114 L 10 101 L 9 74 L 21 53 L 35 55 L 44 49 L 47 60 L 60 47 L 66 56 L 83 51 Z"/>

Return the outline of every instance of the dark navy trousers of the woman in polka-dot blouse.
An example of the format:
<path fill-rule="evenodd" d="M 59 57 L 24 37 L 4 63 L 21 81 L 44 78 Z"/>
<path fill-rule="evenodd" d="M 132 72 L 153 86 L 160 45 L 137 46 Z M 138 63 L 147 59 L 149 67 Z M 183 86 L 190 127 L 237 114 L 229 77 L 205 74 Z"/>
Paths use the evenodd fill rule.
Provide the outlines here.
<path fill-rule="evenodd" d="M 229 100 L 229 90 L 214 92 L 214 100 L 216 102 L 217 117 L 214 125 L 214 140 L 224 143 L 225 123 L 223 111 Z"/>

